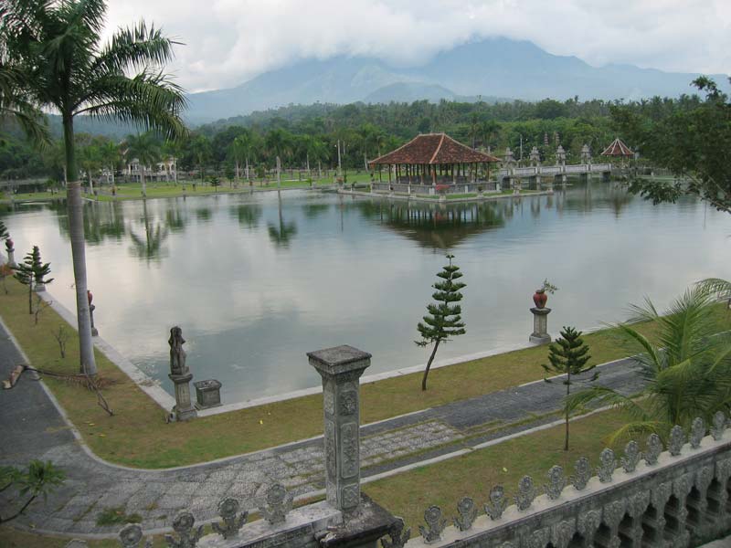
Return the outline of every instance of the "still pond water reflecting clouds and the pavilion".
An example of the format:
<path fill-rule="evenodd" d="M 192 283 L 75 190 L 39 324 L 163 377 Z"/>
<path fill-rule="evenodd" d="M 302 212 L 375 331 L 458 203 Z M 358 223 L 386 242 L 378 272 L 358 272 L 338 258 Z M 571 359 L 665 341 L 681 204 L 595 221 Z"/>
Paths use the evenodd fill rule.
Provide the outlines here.
<path fill-rule="evenodd" d="M 101 336 L 170 392 L 167 338 L 180 325 L 194 380 L 220 380 L 224 403 L 318 385 L 305 353 L 327 346 L 373 353 L 368 374 L 424 363 L 416 324 L 447 250 L 467 283 L 467 334 L 438 358 L 526 342 L 545 278 L 559 288 L 556 335 L 731 277 L 731 216 L 597 181 L 480 205 L 287 191 L 88 203 L 84 215 Z M 75 310 L 65 206 L 16 205 L 3 219 L 16 256 L 38 245 L 48 290 Z"/>

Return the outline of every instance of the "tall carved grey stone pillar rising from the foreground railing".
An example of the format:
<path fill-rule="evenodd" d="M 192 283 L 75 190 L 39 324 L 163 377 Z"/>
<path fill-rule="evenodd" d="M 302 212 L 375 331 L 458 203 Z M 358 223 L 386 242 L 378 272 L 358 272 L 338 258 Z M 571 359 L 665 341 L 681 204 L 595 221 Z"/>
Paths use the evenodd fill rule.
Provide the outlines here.
<path fill-rule="evenodd" d="M 371 354 L 343 345 L 307 353 L 323 377 L 325 491 L 340 511 L 358 508 L 360 495 L 360 383 Z"/>

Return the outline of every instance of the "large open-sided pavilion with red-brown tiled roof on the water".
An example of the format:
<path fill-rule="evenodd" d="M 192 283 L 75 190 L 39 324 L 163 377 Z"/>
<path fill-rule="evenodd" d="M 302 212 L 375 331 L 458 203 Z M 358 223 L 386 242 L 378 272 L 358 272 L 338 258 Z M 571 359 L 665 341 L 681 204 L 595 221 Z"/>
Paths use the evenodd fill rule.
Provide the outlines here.
<path fill-rule="evenodd" d="M 368 165 L 378 166 L 379 180 L 382 180 L 381 166 L 387 165 L 389 183 L 393 174 L 396 183 L 437 185 L 474 183 L 481 166 L 488 179 L 490 163 L 495 162 L 500 159 L 475 151 L 446 133 L 426 133 Z"/>

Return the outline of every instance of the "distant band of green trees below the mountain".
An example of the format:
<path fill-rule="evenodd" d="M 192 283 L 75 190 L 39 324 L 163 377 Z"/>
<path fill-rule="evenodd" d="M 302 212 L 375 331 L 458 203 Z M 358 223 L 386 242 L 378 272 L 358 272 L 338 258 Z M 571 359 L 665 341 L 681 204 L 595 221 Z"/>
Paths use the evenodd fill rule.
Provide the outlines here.
<path fill-rule="evenodd" d="M 419 100 L 410 104 L 315 103 L 209 123 L 192 130 L 181 142 L 162 142 L 154 136 L 146 136 L 131 147 L 128 137 L 110 138 L 81 132 L 77 137 L 79 169 L 93 177 L 111 166 L 119 170 L 132 160 L 131 153 L 142 154 L 147 162 L 173 155 L 177 158 L 178 170 L 213 171 L 221 177 L 236 176 L 237 166 L 241 174 L 247 163 L 252 173 L 270 169 L 278 156 L 284 166 L 306 167 L 309 163 L 311 169 L 316 169 L 318 164 L 322 167 L 337 164 L 338 141 L 341 142 L 344 167 L 363 169 L 366 160 L 426 132 L 447 132 L 461 142 L 490 150 L 498 156 L 503 156 L 505 147 L 509 146 L 519 158 L 522 143 L 523 157 L 527 159 L 531 148 L 536 146 L 545 162 L 553 161 L 560 143 L 567 150 L 568 161 L 576 162 L 584 143 L 594 154 L 599 154 L 614 139 L 619 111 L 635 112 L 652 119 L 693 109 L 701 102 L 694 95 L 678 99 L 656 97 L 630 103 L 577 99 L 498 103 L 447 100 L 439 103 Z M 76 126 L 92 131 L 95 127 L 94 121 L 83 119 Z M 4 129 L 0 135 L 0 177 L 63 178 L 64 156 L 60 144 L 39 152 L 16 128 Z M 628 144 L 632 146 L 633 143 Z M 145 151 L 145 147 L 149 150 Z"/>

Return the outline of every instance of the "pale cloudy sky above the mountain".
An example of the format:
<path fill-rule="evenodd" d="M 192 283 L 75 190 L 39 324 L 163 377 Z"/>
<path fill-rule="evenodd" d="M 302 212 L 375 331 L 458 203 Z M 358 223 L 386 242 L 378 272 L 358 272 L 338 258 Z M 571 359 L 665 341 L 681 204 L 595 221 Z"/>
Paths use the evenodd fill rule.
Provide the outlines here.
<path fill-rule="evenodd" d="M 110 0 L 109 15 L 113 27 L 144 18 L 185 42 L 173 68 L 187 90 L 235 86 L 297 58 L 415 65 L 495 36 L 595 66 L 731 72 L 729 0 Z"/>

